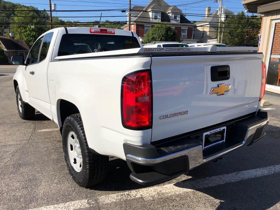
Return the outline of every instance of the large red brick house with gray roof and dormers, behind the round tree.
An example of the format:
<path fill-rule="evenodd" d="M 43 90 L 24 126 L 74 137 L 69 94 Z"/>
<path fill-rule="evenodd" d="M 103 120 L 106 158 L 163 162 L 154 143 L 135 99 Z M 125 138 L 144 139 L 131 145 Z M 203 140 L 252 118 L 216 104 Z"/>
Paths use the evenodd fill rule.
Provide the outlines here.
<path fill-rule="evenodd" d="M 193 39 L 193 28 L 196 26 L 190 22 L 176 6 L 170 6 L 163 0 L 152 0 L 146 6 L 134 6 L 131 8 L 130 31 L 136 32 L 140 40 L 147 31 L 155 24 L 170 24 L 175 29 L 177 37 L 183 43 L 196 43 Z M 122 27 L 128 30 L 128 12 L 127 24 Z M 157 41 L 157 40 L 155 40 Z"/>

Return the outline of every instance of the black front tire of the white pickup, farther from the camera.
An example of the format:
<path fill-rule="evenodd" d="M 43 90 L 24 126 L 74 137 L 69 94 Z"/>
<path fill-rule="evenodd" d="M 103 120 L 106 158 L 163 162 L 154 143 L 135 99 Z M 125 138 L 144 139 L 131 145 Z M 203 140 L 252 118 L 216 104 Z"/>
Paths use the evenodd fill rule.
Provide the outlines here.
<path fill-rule="evenodd" d="M 15 90 L 15 95 L 16 95 L 16 102 L 18 107 L 18 114 L 20 118 L 23 120 L 32 120 L 35 116 L 35 109 L 22 100 L 18 86 Z M 18 100 L 20 100 L 21 107 L 19 107 L 20 105 L 18 103 Z"/>

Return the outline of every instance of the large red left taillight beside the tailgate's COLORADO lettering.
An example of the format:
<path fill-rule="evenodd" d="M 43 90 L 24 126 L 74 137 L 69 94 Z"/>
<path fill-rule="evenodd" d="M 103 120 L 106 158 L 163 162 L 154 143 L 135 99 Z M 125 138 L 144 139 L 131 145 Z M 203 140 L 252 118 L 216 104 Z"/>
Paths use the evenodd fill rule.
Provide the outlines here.
<path fill-rule="evenodd" d="M 130 129 L 152 125 L 152 87 L 150 71 L 125 76 L 122 80 L 122 122 Z"/>

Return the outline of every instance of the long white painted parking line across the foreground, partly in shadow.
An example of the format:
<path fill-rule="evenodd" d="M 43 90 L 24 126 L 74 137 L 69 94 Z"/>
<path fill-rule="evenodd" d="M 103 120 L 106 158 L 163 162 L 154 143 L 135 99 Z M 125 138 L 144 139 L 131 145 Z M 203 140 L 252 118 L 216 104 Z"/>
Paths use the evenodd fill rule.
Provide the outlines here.
<path fill-rule="evenodd" d="M 257 169 L 250 169 L 240 172 L 233 172 L 218 176 L 212 176 L 202 179 L 190 178 L 187 181 L 172 183 L 167 185 L 157 185 L 147 188 L 130 190 L 110 195 L 103 195 L 97 198 L 83 199 L 60 203 L 56 205 L 48 205 L 32 210 L 56 210 L 56 209 L 81 209 L 94 207 L 95 205 L 104 205 L 108 203 L 125 201 L 128 199 L 143 198 L 155 199 L 157 197 L 167 197 L 175 194 L 186 193 L 194 190 L 205 189 L 222 184 L 239 182 L 242 180 L 253 179 L 261 176 L 268 176 L 280 172 L 280 165 L 267 166 Z"/>

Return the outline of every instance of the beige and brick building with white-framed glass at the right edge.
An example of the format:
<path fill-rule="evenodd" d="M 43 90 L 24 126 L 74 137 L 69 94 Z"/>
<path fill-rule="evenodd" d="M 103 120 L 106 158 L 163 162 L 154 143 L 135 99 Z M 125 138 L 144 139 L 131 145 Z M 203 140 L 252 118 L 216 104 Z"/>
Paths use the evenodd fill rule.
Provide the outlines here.
<path fill-rule="evenodd" d="M 267 67 L 265 90 L 280 94 L 280 1 L 245 0 L 247 12 L 262 14 L 259 52 Z"/>

